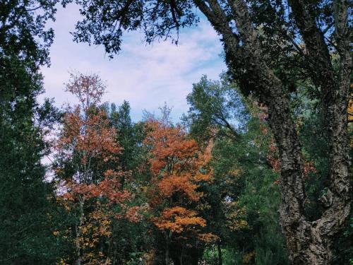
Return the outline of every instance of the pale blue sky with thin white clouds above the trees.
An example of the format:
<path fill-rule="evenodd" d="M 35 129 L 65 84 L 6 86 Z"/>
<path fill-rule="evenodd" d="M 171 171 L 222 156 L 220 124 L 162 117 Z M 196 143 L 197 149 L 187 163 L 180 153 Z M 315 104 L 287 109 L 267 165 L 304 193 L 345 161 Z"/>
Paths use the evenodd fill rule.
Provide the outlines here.
<path fill-rule="evenodd" d="M 220 38 L 207 20 L 197 27 L 181 30 L 179 44 L 170 41 L 146 45 L 140 32 L 124 35 L 120 54 L 109 59 L 101 46 L 73 42 L 72 32 L 80 18 L 78 6 L 58 8 L 54 28 L 54 44 L 50 49 L 51 66 L 43 67 L 43 98 L 54 98 L 58 107 L 76 102 L 64 91 L 69 72 L 97 73 L 107 85 L 103 102 L 121 105 L 127 100 L 131 117 L 138 121 L 143 110 L 158 113 L 164 102 L 172 107 L 174 122 L 189 107 L 186 95 L 203 74 L 217 79 L 226 69 L 220 57 Z"/>

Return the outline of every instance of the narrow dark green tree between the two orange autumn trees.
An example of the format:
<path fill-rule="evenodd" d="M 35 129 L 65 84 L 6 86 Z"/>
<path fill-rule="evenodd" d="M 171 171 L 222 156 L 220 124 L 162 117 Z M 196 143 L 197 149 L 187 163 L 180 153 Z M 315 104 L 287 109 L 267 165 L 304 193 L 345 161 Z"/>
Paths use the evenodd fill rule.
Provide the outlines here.
<path fill-rule="evenodd" d="M 125 219 L 113 220 L 112 264 L 127 264 L 150 259 L 152 241 L 150 222 L 148 220 L 148 202 L 143 190 L 149 186 L 150 171 L 148 155 L 144 148 L 145 126 L 143 122 L 133 122 L 130 116 L 130 105 L 124 101 L 116 107 L 112 104 L 107 108 L 109 122 L 116 129 L 116 139 L 122 150 L 116 155 L 116 166 L 130 175 L 122 186 L 133 194 L 129 199 L 131 217 L 138 216 L 133 222 Z"/>

